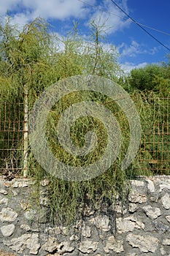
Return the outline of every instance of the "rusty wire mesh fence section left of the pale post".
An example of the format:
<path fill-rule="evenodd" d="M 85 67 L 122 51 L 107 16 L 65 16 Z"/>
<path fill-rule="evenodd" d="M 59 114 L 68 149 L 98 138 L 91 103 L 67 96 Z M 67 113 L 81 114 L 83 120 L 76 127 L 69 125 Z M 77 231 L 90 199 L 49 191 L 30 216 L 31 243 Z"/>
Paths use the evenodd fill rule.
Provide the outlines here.
<path fill-rule="evenodd" d="M 23 102 L 0 104 L 0 173 L 23 169 Z"/>

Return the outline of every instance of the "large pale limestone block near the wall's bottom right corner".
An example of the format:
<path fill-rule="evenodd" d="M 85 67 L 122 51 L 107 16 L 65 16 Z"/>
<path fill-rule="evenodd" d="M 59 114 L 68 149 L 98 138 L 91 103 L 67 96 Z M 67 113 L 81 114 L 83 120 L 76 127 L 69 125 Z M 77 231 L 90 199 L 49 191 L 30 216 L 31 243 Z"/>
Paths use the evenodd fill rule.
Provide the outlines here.
<path fill-rule="evenodd" d="M 153 236 L 139 236 L 129 233 L 126 240 L 131 246 L 139 248 L 140 252 L 155 252 L 158 248 L 159 240 Z"/>

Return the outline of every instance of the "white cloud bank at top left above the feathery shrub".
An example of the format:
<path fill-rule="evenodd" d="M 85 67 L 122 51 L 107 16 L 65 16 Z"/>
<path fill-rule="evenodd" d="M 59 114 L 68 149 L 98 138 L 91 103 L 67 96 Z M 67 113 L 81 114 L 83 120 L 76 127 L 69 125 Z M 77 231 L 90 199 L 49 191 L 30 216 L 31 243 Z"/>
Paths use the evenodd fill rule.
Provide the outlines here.
<path fill-rule="evenodd" d="M 86 0 L 88 3 L 90 0 Z M 91 0 L 93 4 L 95 0 Z M 26 24 L 37 17 L 57 18 L 85 18 L 90 8 L 78 0 L 4 0 L 0 3 L 0 15 L 6 15 L 7 11 L 14 12 L 12 23 Z"/>

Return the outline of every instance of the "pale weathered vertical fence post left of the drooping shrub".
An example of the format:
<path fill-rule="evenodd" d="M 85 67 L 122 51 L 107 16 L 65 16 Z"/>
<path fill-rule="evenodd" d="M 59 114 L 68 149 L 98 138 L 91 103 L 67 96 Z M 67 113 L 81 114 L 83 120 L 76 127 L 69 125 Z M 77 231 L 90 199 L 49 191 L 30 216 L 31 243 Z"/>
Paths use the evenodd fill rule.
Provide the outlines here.
<path fill-rule="evenodd" d="M 28 87 L 24 85 L 23 176 L 28 174 Z"/>

